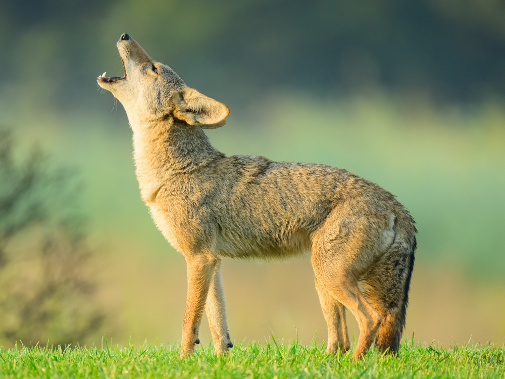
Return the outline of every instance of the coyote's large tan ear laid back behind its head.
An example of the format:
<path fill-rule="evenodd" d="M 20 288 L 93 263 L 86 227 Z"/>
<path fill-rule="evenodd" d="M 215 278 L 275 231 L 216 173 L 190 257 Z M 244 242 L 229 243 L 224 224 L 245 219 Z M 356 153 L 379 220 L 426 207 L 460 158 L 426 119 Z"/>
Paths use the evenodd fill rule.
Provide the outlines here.
<path fill-rule="evenodd" d="M 226 123 L 225 118 L 230 114 L 226 105 L 189 87 L 175 92 L 172 100 L 175 105 L 175 118 L 204 129 L 223 126 Z"/>

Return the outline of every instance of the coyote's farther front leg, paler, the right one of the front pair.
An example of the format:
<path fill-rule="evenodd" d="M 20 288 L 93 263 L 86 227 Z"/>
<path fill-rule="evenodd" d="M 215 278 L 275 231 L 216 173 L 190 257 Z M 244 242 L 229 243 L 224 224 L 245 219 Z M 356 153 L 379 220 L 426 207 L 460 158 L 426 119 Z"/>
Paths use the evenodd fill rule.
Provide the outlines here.
<path fill-rule="evenodd" d="M 230 340 L 228 323 L 226 322 L 223 282 L 221 280 L 221 260 L 216 263 L 212 275 L 205 311 L 209 319 L 209 328 L 211 329 L 216 354 L 227 353 L 228 348 L 232 348 L 233 344 Z"/>

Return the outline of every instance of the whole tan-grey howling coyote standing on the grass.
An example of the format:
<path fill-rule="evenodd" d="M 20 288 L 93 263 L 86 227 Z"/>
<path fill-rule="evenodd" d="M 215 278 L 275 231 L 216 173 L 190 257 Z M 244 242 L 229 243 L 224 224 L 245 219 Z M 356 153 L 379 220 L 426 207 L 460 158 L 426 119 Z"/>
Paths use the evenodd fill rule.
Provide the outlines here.
<path fill-rule="evenodd" d="M 354 358 L 374 342 L 382 352 L 396 352 L 416 249 L 409 212 L 377 184 L 343 169 L 225 156 L 203 129 L 223 126 L 228 107 L 187 87 L 128 34 L 117 47 L 124 76 L 104 73 L 97 81 L 126 110 L 142 201 L 187 263 L 180 356 L 199 343 L 204 309 L 216 354 L 233 347 L 222 258 L 268 260 L 309 251 L 328 352 L 350 348 L 346 308 L 360 327 Z"/>

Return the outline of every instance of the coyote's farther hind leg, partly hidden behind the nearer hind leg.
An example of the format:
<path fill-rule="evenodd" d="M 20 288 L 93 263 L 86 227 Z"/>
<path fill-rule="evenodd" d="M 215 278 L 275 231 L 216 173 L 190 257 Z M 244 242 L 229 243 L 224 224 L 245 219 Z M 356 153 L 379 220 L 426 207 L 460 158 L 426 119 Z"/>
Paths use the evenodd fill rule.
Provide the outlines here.
<path fill-rule="evenodd" d="M 323 309 L 323 315 L 328 325 L 328 352 L 345 353 L 350 348 L 347 325 L 345 323 L 345 307 L 339 303 L 316 277 L 316 290 Z"/>

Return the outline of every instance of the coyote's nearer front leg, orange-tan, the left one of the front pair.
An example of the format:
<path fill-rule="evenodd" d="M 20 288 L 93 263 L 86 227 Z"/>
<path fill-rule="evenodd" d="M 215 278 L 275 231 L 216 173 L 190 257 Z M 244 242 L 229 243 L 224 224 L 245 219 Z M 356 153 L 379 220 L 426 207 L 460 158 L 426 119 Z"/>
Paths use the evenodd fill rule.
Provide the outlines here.
<path fill-rule="evenodd" d="M 180 357 L 189 355 L 198 341 L 198 328 L 201 314 L 209 292 L 217 260 L 204 256 L 193 256 L 187 263 L 187 298 L 184 321 L 182 322 L 182 341 Z"/>

